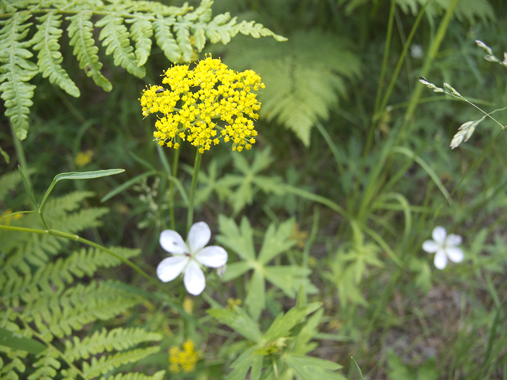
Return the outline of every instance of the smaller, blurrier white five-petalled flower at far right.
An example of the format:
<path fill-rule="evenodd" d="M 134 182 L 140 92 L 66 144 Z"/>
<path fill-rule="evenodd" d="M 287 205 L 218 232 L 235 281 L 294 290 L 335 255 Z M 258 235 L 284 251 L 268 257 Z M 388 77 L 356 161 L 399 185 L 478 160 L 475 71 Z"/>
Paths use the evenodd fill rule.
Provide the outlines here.
<path fill-rule="evenodd" d="M 422 249 L 428 253 L 435 253 L 434 263 L 438 269 L 444 269 L 447 259 L 453 262 L 461 262 L 464 258 L 463 251 L 456 247 L 461 244 L 461 236 L 451 234 L 447 236 L 444 227 L 435 227 L 431 236 L 433 240 L 426 240 L 422 243 Z"/>

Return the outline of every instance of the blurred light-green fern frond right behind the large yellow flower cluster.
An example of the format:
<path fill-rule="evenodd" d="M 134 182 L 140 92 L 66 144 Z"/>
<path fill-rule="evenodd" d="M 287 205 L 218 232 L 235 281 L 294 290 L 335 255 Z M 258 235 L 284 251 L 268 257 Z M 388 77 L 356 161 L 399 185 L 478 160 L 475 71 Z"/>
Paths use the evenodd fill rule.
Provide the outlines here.
<path fill-rule="evenodd" d="M 259 94 L 261 117 L 276 119 L 307 146 L 315 122 L 328 119 L 339 98 L 347 96 L 344 78 L 360 75 L 360 61 L 350 43 L 317 30 L 296 32 L 276 45 L 236 39 L 225 62 L 262 73 L 266 91 Z"/>

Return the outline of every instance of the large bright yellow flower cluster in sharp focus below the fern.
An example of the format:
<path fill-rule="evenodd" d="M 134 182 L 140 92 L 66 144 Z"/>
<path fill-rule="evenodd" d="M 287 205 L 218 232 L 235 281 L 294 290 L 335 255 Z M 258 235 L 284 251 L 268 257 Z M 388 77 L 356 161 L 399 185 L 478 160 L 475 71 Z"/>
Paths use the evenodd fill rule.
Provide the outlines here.
<path fill-rule="evenodd" d="M 153 133 L 159 145 L 177 149 L 179 136 L 204 153 L 222 136 L 225 142 L 232 140 L 232 150 L 251 148 L 257 136 L 255 111 L 261 108 L 257 93 L 265 88 L 255 71 L 235 72 L 209 56 L 192 70 L 176 65 L 164 74 L 162 83 L 170 89 L 150 86 L 139 99 L 143 116 L 159 115 Z M 219 120 L 225 125 L 218 125 Z"/>

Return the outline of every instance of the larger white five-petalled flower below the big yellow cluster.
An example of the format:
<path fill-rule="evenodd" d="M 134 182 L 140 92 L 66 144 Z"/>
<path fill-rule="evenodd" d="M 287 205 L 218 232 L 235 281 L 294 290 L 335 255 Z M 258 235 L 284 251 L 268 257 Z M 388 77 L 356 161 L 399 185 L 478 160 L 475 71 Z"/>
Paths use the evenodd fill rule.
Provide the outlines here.
<path fill-rule="evenodd" d="M 211 231 L 205 222 L 198 222 L 190 227 L 188 245 L 176 231 L 162 231 L 160 245 L 173 256 L 160 262 L 157 267 L 158 278 L 168 282 L 174 280 L 180 273 L 185 273 L 183 282 L 187 291 L 193 295 L 201 294 L 206 286 L 206 280 L 200 264 L 219 268 L 227 262 L 227 252 L 224 248 L 204 247 L 209 238 Z"/>

